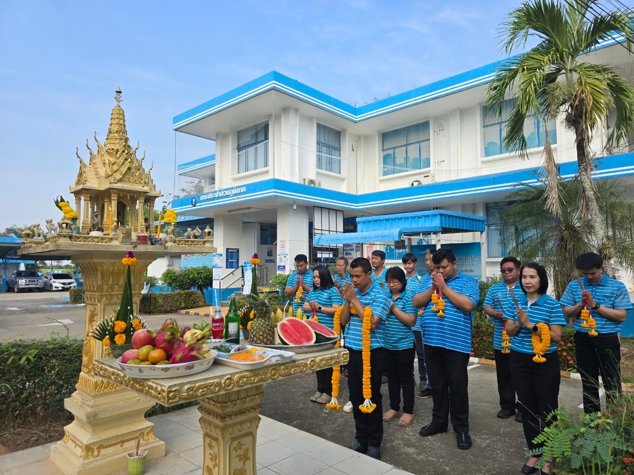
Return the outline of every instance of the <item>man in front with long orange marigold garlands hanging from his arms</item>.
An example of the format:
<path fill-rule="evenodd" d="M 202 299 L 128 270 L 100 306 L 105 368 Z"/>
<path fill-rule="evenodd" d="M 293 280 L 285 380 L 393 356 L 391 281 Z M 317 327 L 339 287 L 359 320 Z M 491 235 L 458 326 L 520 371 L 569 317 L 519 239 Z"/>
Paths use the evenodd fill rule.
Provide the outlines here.
<path fill-rule="evenodd" d="M 353 403 L 354 443 L 350 446 L 355 452 L 367 453 L 369 457 L 380 459 L 380 446 L 383 440 L 383 405 L 381 395 L 381 369 L 383 365 L 383 331 L 390 302 L 385 291 L 372 282 L 372 267 L 364 257 L 358 257 L 350 263 L 350 278 L 353 286 L 344 283 L 344 305 L 341 309 L 341 324 L 346 326 L 346 349 L 348 360 L 348 391 Z M 350 312 L 354 307 L 356 314 Z M 377 407 L 365 414 L 359 406 L 363 404 L 363 315 L 365 307 L 372 308 L 372 326 L 370 330 L 370 388 L 372 403 Z"/>

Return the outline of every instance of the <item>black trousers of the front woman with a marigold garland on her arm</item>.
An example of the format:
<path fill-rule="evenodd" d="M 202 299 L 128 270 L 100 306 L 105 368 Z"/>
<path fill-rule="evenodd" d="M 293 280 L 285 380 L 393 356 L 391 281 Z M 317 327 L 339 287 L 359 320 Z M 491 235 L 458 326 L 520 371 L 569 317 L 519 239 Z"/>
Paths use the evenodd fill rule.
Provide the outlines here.
<path fill-rule="evenodd" d="M 534 362 L 534 354 L 511 350 L 508 356 L 517 398 L 524 409 L 524 438 L 529 450 L 540 448 L 541 445 L 533 443 L 533 439 L 546 427 L 547 415 L 559 406 L 559 355 L 557 352 L 545 353 L 546 361 L 543 363 Z"/>

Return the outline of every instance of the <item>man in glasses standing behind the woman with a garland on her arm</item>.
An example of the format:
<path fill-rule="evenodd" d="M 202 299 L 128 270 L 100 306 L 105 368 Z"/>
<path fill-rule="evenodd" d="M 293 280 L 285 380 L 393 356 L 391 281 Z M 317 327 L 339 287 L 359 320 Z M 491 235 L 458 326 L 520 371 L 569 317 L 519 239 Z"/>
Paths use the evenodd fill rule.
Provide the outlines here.
<path fill-rule="evenodd" d="M 508 353 L 502 353 L 502 331 L 504 329 L 504 310 L 512 301 L 510 293 L 521 299 L 524 296 L 519 286 L 521 263 L 514 257 L 505 257 L 500 261 L 503 282 L 493 284 L 486 293 L 482 310 L 493 320 L 493 348 L 495 350 L 495 371 L 498 376 L 498 394 L 500 410 L 497 416 L 508 419 L 515 414 L 515 421 L 522 422 L 521 404 L 515 399 L 515 385 L 508 365 Z M 517 410 L 517 412 L 515 412 Z"/>

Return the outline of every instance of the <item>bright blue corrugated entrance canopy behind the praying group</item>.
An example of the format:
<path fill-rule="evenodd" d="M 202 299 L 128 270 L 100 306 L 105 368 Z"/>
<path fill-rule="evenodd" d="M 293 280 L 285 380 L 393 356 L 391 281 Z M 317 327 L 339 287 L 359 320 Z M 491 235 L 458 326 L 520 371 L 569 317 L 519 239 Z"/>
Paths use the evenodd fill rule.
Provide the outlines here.
<path fill-rule="evenodd" d="M 373 243 L 399 241 L 402 236 L 432 234 L 436 232 L 483 232 L 486 218 L 446 210 L 430 210 L 417 213 L 357 218 L 358 232 L 342 234 L 318 234 L 315 246 L 344 243 Z"/>

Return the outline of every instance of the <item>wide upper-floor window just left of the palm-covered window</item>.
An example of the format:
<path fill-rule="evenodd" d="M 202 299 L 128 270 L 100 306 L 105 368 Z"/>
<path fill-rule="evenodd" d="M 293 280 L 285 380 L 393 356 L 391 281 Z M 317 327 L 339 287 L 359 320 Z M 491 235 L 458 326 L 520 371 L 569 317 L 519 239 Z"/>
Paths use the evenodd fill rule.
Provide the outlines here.
<path fill-rule="evenodd" d="M 430 167 L 429 122 L 383 134 L 383 176 Z"/>

